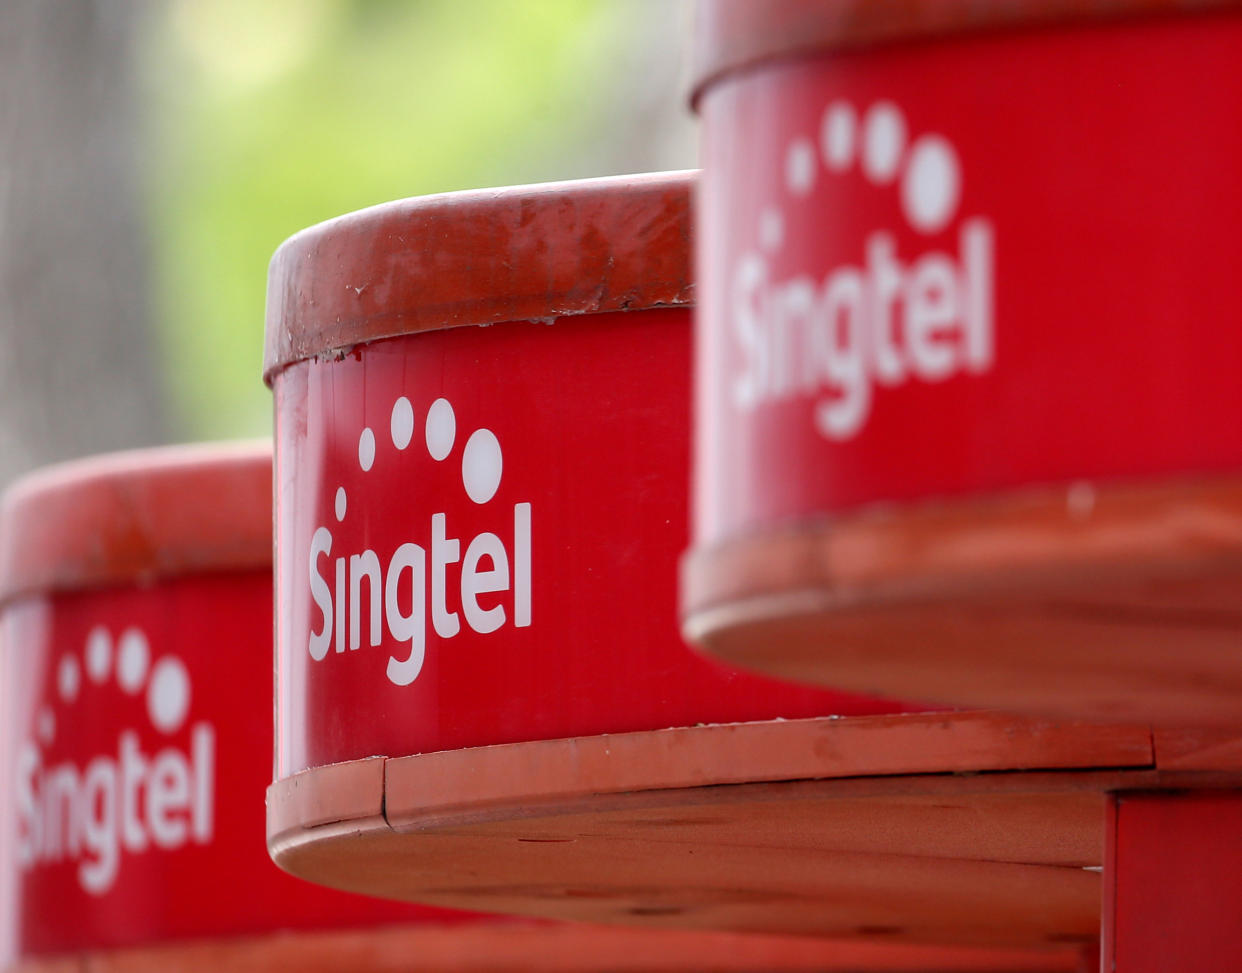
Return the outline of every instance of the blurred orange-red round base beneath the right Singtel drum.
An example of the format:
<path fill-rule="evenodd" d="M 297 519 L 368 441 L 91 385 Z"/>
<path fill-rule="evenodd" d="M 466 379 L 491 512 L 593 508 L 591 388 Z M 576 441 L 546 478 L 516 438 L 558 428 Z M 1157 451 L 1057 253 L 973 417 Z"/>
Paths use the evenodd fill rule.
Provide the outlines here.
<path fill-rule="evenodd" d="M 858 692 L 1242 726 L 1242 481 L 883 507 L 693 550 L 712 655 Z"/>

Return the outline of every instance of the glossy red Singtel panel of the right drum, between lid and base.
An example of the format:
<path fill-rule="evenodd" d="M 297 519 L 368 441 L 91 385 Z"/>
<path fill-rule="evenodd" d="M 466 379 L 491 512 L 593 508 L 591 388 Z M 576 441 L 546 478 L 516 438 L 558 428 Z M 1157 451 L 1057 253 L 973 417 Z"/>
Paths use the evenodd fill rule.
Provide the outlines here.
<path fill-rule="evenodd" d="M 1242 466 L 1240 43 L 1161 17 L 710 85 L 696 544 Z"/>

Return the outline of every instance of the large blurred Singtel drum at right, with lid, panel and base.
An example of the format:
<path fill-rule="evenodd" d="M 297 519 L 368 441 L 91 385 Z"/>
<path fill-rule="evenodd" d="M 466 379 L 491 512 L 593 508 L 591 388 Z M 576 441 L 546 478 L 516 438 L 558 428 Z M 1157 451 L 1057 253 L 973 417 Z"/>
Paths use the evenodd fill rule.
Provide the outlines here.
<path fill-rule="evenodd" d="M 700 4 L 692 637 L 1237 723 L 1238 10 Z"/>

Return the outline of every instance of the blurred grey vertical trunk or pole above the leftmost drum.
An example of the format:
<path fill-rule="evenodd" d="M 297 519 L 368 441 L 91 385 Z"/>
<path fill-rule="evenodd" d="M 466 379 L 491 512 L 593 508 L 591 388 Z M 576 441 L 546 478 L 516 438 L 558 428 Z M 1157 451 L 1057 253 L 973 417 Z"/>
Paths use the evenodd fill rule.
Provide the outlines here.
<path fill-rule="evenodd" d="M 0 485 L 165 435 L 129 0 L 0 4 Z"/>

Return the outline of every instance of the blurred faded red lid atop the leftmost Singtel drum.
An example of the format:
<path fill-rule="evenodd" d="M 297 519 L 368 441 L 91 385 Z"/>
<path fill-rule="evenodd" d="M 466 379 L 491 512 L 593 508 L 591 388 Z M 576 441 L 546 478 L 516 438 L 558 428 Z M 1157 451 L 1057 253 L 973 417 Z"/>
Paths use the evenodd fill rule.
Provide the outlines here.
<path fill-rule="evenodd" d="M 34 472 L 0 507 L 0 601 L 272 563 L 267 442 L 171 446 Z"/>

